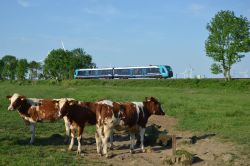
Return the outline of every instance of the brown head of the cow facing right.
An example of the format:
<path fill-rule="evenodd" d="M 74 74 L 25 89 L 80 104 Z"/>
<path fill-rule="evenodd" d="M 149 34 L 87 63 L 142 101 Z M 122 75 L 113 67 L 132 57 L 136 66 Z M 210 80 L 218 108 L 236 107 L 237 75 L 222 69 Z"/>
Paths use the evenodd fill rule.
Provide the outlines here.
<path fill-rule="evenodd" d="M 154 97 L 145 97 L 143 102 L 146 109 L 154 115 L 165 115 L 165 112 L 162 109 L 161 103 Z"/>

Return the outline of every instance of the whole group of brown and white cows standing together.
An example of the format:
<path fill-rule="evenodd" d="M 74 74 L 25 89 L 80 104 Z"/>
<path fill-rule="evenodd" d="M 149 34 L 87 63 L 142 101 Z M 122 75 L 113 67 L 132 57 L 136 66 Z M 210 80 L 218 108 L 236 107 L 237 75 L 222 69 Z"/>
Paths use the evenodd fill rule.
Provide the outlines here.
<path fill-rule="evenodd" d="M 108 140 L 113 147 L 115 129 L 130 133 L 130 152 L 133 153 L 135 134 L 139 133 L 141 150 L 144 149 L 144 133 L 148 118 L 151 115 L 165 115 L 161 103 L 154 97 L 145 97 L 143 102 L 113 102 L 100 100 L 83 102 L 72 98 L 37 99 L 27 98 L 17 93 L 6 96 L 10 100 L 9 111 L 18 110 L 24 122 L 32 132 L 30 144 L 34 143 L 35 124 L 41 121 L 64 119 L 66 136 L 70 138 L 69 150 L 74 145 L 75 130 L 77 130 L 78 148 L 81 153 L 81 139 L 85 125 L 96 125 L 97 153 L 109 157 Z"/>

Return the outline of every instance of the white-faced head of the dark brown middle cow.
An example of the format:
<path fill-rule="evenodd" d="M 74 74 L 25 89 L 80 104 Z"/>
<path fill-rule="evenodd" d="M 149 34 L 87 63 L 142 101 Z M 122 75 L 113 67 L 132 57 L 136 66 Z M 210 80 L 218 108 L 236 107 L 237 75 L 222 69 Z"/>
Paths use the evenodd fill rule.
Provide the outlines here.
<path fill-rule="evenodd" d="M 59 117 L 64 117 L 69 113 L 70 105 L 73 105 L 76 101 L 73 99 L 62 98 L 57 102 L 59 104 Z"/>

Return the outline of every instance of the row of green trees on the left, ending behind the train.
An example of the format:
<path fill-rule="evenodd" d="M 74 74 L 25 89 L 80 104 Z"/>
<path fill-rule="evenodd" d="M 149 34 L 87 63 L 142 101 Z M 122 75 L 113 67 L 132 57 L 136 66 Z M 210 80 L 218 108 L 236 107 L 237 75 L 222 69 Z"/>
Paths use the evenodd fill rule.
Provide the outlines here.
<path fill-rule="evenodd" d="M 38 80 L 38 79 L 73 79 L 77 68 L 95 68 L 92 56 L 82 48 L 71 51 L 54 49 L 44 62 L 17 59 L 13 55 L 5 55 L 0 59 L 1 80 Z"/>

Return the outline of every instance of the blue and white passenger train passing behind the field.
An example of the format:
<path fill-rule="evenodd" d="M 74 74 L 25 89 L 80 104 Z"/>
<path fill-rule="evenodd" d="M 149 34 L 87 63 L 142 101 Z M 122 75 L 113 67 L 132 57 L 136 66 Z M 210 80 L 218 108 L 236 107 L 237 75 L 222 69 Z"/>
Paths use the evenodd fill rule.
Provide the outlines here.
<path fill-rule="evenodd" d="M 74 72 L 75 79 L 165 79 L 171 77 L 173 77 L 173 70 L 168 65 L 76 69 Z"/>

